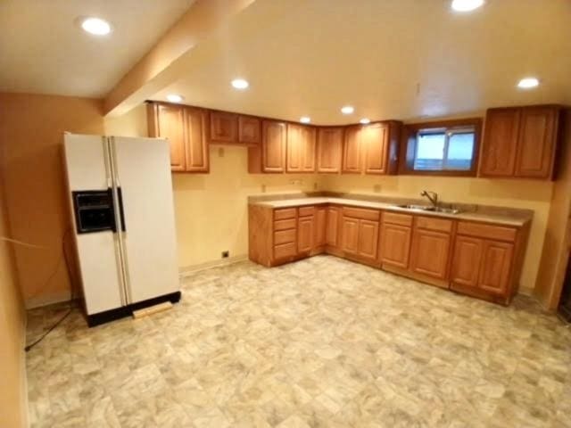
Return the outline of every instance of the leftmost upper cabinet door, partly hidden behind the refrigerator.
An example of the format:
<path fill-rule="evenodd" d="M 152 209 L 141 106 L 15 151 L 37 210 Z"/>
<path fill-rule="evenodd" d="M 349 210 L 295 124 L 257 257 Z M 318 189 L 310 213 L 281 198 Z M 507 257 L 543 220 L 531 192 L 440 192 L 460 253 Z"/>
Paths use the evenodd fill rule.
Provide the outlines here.
<path fill-rule="evenodd" d="M 185 146 L 185 108 L 181 105 L 158 104 L 155 108 L 155 128 L 149 136 L 158 136 L 169 140 L 170 169 L 184 171 L 186 169 Z"/>

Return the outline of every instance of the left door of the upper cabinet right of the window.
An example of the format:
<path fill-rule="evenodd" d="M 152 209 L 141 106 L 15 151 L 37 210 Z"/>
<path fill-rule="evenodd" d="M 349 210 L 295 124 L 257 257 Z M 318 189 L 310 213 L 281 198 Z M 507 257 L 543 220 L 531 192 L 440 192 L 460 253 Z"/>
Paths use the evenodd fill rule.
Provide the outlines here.
<path fill-rule="evenodd" d="M 520 116 L 520 109 L 487 111 L 480 175 L 493 177 L 514 175 Z"/>

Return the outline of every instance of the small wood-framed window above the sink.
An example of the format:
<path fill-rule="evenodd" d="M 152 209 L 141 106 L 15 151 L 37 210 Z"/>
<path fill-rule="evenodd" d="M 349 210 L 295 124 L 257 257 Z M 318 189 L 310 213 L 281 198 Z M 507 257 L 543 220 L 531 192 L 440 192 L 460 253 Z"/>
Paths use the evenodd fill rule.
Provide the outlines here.
<path fill-rule="evenodd" d="M 480 119 L 407 125 L 401 174 L 475 176 Z"/>

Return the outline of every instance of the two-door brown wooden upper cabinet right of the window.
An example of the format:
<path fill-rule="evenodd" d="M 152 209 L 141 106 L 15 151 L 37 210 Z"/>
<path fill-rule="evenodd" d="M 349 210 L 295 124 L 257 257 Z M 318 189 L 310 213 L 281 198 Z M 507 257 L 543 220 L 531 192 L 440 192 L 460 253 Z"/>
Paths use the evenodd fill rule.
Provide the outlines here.
<path fill-rule="evenodd" d="M 480 176 L 552 177 L 559 113 L 553 105 L 488 110 Z"/>

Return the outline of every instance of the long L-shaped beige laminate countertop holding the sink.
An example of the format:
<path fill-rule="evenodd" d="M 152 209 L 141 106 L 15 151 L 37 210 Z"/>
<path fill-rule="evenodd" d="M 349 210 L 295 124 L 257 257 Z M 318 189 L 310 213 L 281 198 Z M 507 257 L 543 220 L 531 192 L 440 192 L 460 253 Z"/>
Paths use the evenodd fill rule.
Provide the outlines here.
<path fill-rule="evenodd" d="M 429 217 L 440 218 L 453 218 L 457 220 L 477 221 L 482 223 L 493 223 L 496 225 L 522 227 L 530 222 L 533 218 L 533 211 L 529 210 L 515 210 L 501 207 L 477 207 L 475 211 L 460 211 L 458 214 L 451 214 L 445 212 L 434 212 L 426 210 L 410 210 L 398 207 L 399 202 L 379 202 L 379 201 L 365 201 L 350 198 L 337 198 L 337 197 L 305 197 L 298 199 L 277 199 L 277 200 L 263 200 L 251 201 L 251 205 L 259 205 L 269 208 L 292 208 L 301 207 L 305 205 L 320 205 L 332 203 L 336 205 L 346 205 L 359 208 L 371 208 L 375 210 L 386 210 L 393 212 L 401 212 L 408 214 L 423 215 Z M 424 205 L 424 204 L 423 204 Z"/>

